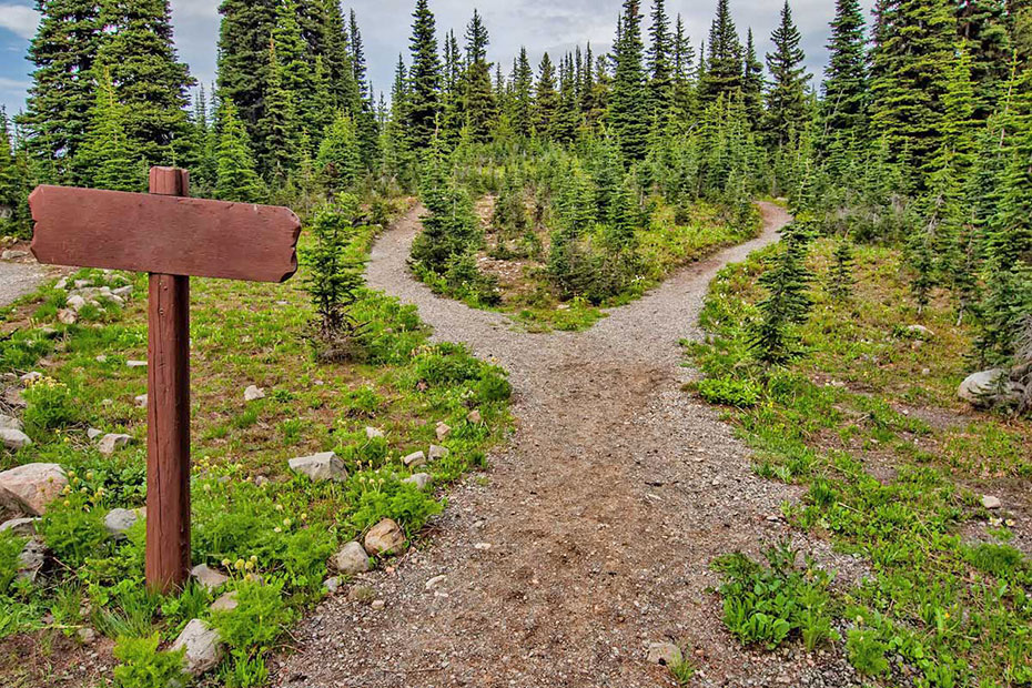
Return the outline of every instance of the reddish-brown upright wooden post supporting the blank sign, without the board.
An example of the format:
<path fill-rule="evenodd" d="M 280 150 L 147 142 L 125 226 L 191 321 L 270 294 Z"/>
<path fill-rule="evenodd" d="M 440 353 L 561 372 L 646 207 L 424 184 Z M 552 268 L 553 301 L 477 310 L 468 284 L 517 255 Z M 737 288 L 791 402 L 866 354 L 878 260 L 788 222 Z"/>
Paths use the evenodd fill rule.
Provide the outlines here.
<path fill-rule="evenodd" d="M 152 168 L 150 192 L 189 196 L 185 170 Z M 150 273 L 146 397 L 146 586 L 190 576 L 190 277 Z"/>

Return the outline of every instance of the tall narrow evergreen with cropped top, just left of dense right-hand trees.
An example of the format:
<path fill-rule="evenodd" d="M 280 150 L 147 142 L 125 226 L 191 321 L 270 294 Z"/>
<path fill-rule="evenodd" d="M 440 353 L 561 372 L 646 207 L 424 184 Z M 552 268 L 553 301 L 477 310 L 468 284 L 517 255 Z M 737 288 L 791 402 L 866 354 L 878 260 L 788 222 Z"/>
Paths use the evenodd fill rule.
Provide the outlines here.
<path fill-rule="evenodd" d="M 834 136 L 857 136 L 866 130 L 868 82 L 864 40 L 860 0 L 837 0 L 828 43 L 831 58 L 820 109 L 826 145 Z"/>

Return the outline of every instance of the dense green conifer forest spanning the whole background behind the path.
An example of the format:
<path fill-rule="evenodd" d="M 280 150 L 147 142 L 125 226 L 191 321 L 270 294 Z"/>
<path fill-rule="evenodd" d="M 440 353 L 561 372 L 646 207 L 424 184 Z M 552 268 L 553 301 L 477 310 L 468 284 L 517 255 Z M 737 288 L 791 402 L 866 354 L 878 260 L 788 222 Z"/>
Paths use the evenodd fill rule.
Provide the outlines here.
<path fill-rule="evenodd" d="M 601 303 L 643 272 L 635 232 L 658 211 L 676 223 L 708 202 L 745 224 L 752 199 L 786 196 L 799 245 L 771 279 L 789 295 L 810 237 L 839 237 L 844 263 L 852 242 L 886 242 L 905 247 L 919 304 L 949 291 L 958 320 L 978 324 L 980 363 L 1012 360 L 1029 327 L 1023 0 L 880 0 L 870 21 L 838 0 L 821 83 L 788 2 L 766 60 L 729 0 L 698 47 L 664 0 L 647 21 L 627 0 L 610 52 L 586 44 L 535 67 L 526 50 L 492 62 L 476 10 L 462 36 L 438 34 L 418 0 L 389 97 L 370 83 L 355 13 L 332 0 L 225 0 L 209 89 L 176 57 L 168 2 L 38 9 L 28 108 L 4 118 L 0 146 L 9 233 L 28 232 L 36 183 L 140 190 L 158 163 L 189 168 L 196 195 L 300 211 L 418 191 L 415 269 L 489 304 L 497 285 L 471 255 L 472 201 L 492 192 L 496 250 L 538 256 L 559 299 Z M 547 255 L 530 225 L 549 231 Z M 772 301 L 761 338 L 778 358 L 778 322 L 802 304 Z"/>

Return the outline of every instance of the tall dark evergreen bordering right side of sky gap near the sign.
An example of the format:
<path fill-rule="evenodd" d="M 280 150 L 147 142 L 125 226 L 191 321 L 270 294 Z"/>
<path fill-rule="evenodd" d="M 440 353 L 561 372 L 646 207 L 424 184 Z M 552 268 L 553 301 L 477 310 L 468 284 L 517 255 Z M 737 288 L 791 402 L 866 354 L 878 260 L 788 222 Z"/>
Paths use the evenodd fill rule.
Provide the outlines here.
<path fill-rule="evenodd" d="M 240 109 L 252 139 L 261 138 L 257 125 L 265 117 L 269 37 L 276 23 L 276 6 L 277 0 L 222 0 L 219 7 L 219 93 Z"/>

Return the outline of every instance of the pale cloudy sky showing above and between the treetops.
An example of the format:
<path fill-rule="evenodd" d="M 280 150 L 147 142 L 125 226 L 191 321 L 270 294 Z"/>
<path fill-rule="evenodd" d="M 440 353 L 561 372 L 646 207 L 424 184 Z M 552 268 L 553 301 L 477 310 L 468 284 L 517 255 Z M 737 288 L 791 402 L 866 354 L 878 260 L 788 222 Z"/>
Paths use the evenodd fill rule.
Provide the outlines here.
<path fill-rule="evenodd" d="M 870 10 L 874 0 L 861 0 Z M 31 64 L 26 60 L 29 40 L 38 18 L 31 0 L 0 0 L 0 104 L 8 113 L 23 109 L 30 85 Z M 374 89 L 389 89 L 399 52 L 408 52 L 408 36 L 414 0 L 352 0 L 365 41 L 366 60 Z M 489 59 L 499 61 L 508 73 L 513 57 L 526 45 L 536 65 L 545 51 L 561 54 L 574 45 L 590 41 L 597 52 L 613 42 L 621 0 L 431 0 L 437 16 L 438 34 L 455 29 L 462 34 L 473 8 L 484 16 L 490 32 Z M 649 4 L 647 1 L 643 6 Z M 818 78 L 827 61 L 828 22 L 834 14 L 833 0 L 791 0 L 796 23 L 803 37 L 810 71 Z M 667 0 L 667 11 L 680 13 L 691 42 L 698 47 L 709 33 L 717 0 Z M 193 75 L 203 83 L 215 78 L 215 42 L 219 36 L 217 0 L 172 0 L 172 20 L 180 59 L 190 64 Z M 751 27 L 757 50 L 772 49 L 770 32 L 779 21 L 779 0 L 731 0 L 731 11 L 745 41 Z"/>

